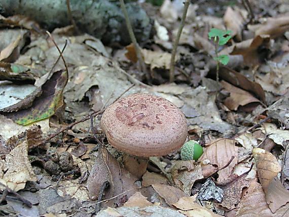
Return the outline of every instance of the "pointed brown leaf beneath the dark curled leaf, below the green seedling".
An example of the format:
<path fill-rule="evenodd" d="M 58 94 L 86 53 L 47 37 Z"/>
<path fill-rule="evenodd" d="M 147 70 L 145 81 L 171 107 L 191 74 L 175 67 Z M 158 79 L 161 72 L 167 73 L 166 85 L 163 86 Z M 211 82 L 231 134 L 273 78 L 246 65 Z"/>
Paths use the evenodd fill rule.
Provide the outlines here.
<path fill-rule="evenodd" d="M 252 96 L 249 92 L 237 88 L 225 81 L 221 81 L 222 86 L 230 92 L 230 96 L 224 101 L 224 104 L 230 109 L 237 111 L 239 106 L 244 106 L 252 102 L 260 102 L 259 99 Z"/>

